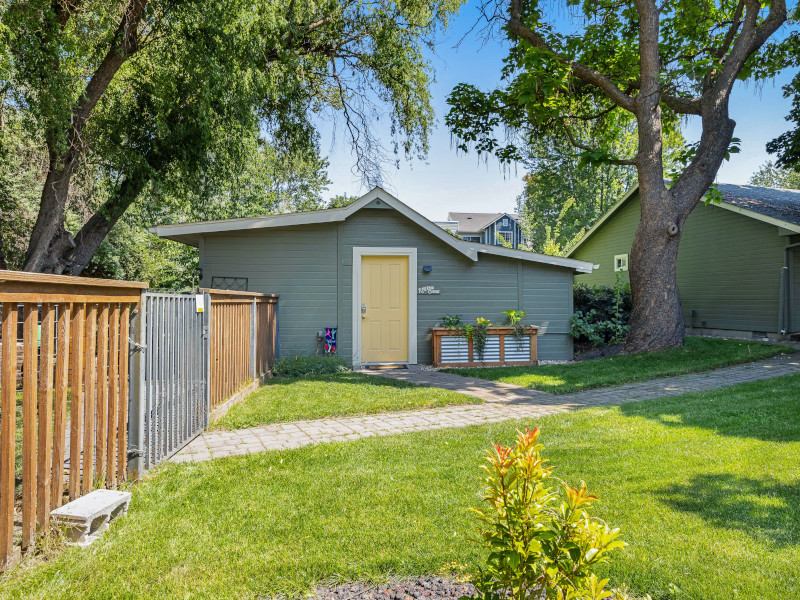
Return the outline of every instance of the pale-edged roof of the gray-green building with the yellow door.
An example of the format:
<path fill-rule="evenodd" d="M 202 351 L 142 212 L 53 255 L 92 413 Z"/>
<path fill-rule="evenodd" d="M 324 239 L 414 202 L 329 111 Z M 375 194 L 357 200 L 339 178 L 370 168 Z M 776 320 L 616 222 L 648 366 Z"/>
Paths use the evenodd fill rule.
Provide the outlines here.
<path fill-rule="evenodd" d="M 386 190 L 375 187 L 361 198 L 342 208 L 329 208 L 300 213 L 287 213 L 281 215 L 267 215 L 264 217 L 247 217 L 243 219 L 225 219 L 220 221 L 203 221 L 199 223 L 179 223 L 175 225 L 157 225 L 150 228 L 150 232 L 160 238 L 181 242 L 189 246 L 199 246 L 200 237 L 209 233 L 249 231 L 253 229 L 270 229 L 275 227 L 292 227 L 297 225 L 312 225 L 318 223 L 338 223 L 345 221 L 362 208 L 369 205 L 379 206 L 384 203 L 389 208 L 399 212 L 416 225 L 439 238 L 442 242 L 460 252 L 473 261 L 478 260 L 480 254 L 493 254 L 517 258 L 529 262 L 549 264 L 566 267 L 579 273 L 591 273 L 593 265 L 590 262 L 565 258 L 563 256 L 550 256 L 525 250 L 510 250 L 499 246 L 465 242 L 451 235 L 432 221 L 406 206 L 400 200 L 389 194 Z M 374 203 L 374 204 L 373 204 Z M 505 213 L 499 213 L 501 216 Z"/>

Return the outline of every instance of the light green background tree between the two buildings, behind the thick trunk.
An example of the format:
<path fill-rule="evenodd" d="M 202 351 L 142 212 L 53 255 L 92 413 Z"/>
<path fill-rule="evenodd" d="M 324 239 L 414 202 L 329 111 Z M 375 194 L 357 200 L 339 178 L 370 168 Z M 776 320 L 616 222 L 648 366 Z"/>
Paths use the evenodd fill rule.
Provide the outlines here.
<path fill-rule="evenodd" d="M 626 119 L 620 135 L 609 140 L 615 155 L 636 152 L 636 123 Z M 576 123 L 573 135 L 584 145 L 602 143 L 592 123 Z M 678 130 L 664 135 L 664 168 L 672 170 L 685 145 Z M 525 188 L 517 198 L 517 212 L 531 249 L 563 254 L 572 243 L 636 183 L 631 166 L 601 163 L 592 165 L 565 136 L 530 140 L 523 149 L 528 173 Z"/>

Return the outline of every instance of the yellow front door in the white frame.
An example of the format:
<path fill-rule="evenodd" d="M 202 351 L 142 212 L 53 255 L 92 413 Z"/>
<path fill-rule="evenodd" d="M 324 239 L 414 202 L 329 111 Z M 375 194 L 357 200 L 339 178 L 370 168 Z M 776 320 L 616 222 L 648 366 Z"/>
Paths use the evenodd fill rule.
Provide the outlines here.
<path fill-rule="evenodd" d="M 408 256 L 361 257 L 361 361 L 408 362 Z"/>

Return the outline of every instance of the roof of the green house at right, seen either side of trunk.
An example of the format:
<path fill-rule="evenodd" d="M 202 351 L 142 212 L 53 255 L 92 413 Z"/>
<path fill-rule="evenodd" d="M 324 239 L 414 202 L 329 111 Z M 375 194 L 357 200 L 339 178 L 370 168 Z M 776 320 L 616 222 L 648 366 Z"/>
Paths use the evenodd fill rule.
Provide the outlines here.
<path fill-rule="evenodd" d="M 722 196 L 722 202 L 712 202 L 709 206 L 730 210 L 757 221 L 782 227 L 793 233 L 800 233 L 800 190 L 733 183 L 718 183 L 716 187 Z M 639 185 L 637 184 L 625 192 L 622 198 L 569 249 L 567 256 L 572 256 L 586 240 L 592 237 L 638 191 Z"/>

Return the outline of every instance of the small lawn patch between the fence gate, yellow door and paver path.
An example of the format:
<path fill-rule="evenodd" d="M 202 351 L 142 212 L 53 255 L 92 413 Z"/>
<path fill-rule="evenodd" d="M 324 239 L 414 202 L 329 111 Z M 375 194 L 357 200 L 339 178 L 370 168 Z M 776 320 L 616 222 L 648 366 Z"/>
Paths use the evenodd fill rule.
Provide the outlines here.
<path fill-rule="evenodd" d="M 240 429 L 301 419 L 480 402 L 456 392 L 363 373 L 287 377 L 267 382 L 231 408 L 214 426 Z"/>

